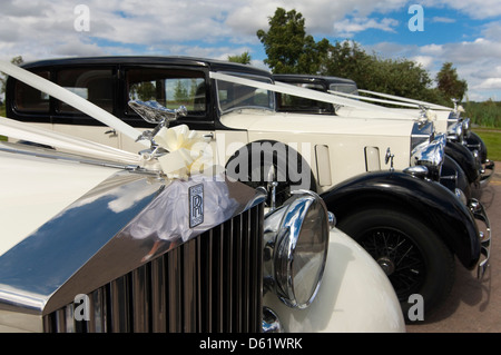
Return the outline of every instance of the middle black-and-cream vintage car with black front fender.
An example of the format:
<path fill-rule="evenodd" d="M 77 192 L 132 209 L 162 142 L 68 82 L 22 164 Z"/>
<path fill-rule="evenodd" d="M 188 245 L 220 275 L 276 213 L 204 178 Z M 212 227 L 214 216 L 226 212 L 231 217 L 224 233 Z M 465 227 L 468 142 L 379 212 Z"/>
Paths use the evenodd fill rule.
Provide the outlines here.
<path fill-rule="evenodd" d="M 265 187 L 268 206 L 281 206 L 296 189 L 321 195 L 338 228 L 385 270 L 404 315 L 414 294 L 423 297 L 426 312 L 446 298 L 454 256 L 479 275 L 489 264 L 489 218 L 458 186 L 439 184 L 446 137 L 429 120 L 391 109 L 379 109 L 377 120 L 277 112 L 275 92 L 367 111 L 374 105 L 275 85 L 265 70 L 202 58 L 49 59 L 23 68 L 95 102 L 124 125 L 149 131 L 138 141 L 137 131 L 97 124 L 92 112 L 82 114 L 13 76 L 6 92 L 9 118 L 131 152 L 144 149 L 140 144 L 155 134 L 155 125 L 139 117 L 138 103 L 154 102 L 160 111 L 184 106 L 184 115 L 168 122 L 175 135 L 184 136 L 185 126 L 199 132 L 207 141 L 196 156 L 210 152 L 230 178 Z M 177 158 L 174 166 L 194 159 L 187 151 Z"/>

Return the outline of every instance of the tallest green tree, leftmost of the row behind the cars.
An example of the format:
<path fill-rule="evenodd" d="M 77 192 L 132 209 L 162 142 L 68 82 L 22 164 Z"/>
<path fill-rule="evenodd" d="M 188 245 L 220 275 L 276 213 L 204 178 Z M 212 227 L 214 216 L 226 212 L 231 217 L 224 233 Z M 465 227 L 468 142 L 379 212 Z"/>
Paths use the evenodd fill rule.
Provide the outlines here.
<path fill-rule="evenodd" d="M 326 55 L 328 41 L 315 42 L 306 34 L 305 19 L 296 10 L 277 8 L 268 18 L 269 29 L 257 31 L 267 58 L 264 62 L 275 73 L 316 73 Z"/>

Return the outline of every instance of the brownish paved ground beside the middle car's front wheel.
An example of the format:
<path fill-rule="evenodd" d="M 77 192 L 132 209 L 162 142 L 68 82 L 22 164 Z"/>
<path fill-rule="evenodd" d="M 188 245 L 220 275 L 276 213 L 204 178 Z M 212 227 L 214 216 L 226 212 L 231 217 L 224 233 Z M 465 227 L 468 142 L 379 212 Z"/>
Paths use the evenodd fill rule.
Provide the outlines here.
<path fill-rule="evenodd" d="M 456 266 L 449 299 L 409 333 L 501 333 L 501 162 L 480 197 L 491 220 L 490 267 L 482 280 L 475 272 Z"/>

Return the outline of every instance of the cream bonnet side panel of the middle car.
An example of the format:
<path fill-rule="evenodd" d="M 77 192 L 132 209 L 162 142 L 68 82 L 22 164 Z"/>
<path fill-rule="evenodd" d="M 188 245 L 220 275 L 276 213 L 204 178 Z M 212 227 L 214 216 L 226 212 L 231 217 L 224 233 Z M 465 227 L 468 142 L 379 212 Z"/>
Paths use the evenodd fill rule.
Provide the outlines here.
<path fill-rule="evenodd" d="M 317 181 L 321 162 L 316 160 L 315 146 L 327 146 L 332 180 L 331 185 L 317 185 L 317 191 L 325 191 L 347 178 L 366 172 L 366 147 L 377 148 L 377 166 L 381 169 L 390 169 L 385 164 L 387 148 L 397 152 L 393 160 L 395 169 L 405 169 L 410 166 L 410 131 L 413 125 L 411 120 L 361 118 L 361 124 L 354 125 L 354 118 L 332 116 L 308 118 L 307 115 L 301 114 L 243 110 L 224 115 L 222 122 L 234 129 L 246 130 L 248 142 L 271 140 L 293 147 L 310 164 Z M 229 139 L 226 139 L 226 144 L 228 141 Z"/>

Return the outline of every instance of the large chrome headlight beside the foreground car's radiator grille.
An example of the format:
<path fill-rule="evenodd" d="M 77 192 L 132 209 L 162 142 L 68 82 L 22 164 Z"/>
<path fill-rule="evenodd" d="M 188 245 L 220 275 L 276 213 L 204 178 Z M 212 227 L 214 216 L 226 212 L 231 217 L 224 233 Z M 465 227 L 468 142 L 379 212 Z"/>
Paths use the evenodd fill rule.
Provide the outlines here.
<path fill-rule="evenodd" d="M 264 221 L 264 285 L 287 306 L 307 307 L 324 274 L 328 216 L 324 201 L 311 191 L 296 191 Z"/>

